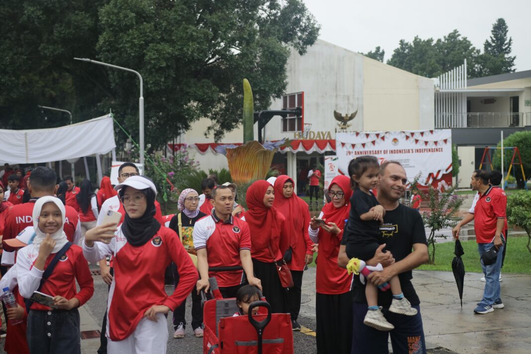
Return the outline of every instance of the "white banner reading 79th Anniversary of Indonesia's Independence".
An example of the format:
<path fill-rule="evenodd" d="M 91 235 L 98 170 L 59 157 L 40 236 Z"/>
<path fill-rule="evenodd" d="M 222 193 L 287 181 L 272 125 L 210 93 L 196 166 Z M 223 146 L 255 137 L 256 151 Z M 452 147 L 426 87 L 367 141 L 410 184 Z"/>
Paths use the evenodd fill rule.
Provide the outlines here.
<path fill-rule="evenodd" d="M 450 129 L 336 133 L 338 170 L 348 176 L 350 160 L 373 155 L 380 164 L 387 160 L 400 162 L 409 180 L 420 172 L 421 185 L 451 185 L 451 138 Z"/>

